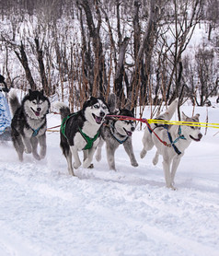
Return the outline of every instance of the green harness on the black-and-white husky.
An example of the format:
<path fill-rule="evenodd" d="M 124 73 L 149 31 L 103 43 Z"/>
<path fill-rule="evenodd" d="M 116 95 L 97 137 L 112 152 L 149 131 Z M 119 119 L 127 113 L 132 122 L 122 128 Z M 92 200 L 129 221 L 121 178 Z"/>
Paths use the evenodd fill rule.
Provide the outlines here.
<path fill-rule="evenodd" d="M 68 139 L 65 135 L 65 127 L 66 127 L 66 123 L 68 122 L 68 120 L 75 116 L 75 114 L 77 114 L 77 112 L 75 113 L 71 113 L 69 114 L 67 117 L 63 118 L 63 122 L 61 124 L 61 128 L 60 128 L 60 131 L 61 133 L 63 134 L 63 136 Z M 86 146 L 83 148 L 83 150 L 86 150 L 86 149 L 90 149 L 94 142 L 98 139 L 98 135 L 99 135 L 99 131 L 98 131 L 98 134 L 96 134 L 93 138 L 90 138 L 89 136 L 87 136 L 85 133 L 82 132 L 81 128 L 78 127 L 78 130 L 80 132 L 80 134 L 83 136 L 83 138 L 86 140 Z"/>

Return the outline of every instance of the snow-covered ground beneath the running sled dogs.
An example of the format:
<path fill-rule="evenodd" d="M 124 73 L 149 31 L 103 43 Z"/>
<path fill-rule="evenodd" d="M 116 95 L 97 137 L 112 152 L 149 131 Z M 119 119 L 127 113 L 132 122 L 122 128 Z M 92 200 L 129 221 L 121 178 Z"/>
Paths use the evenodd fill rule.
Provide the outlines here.
<path fill-rule="evenodd" d="M 206 109 L 199 111 L 205 122 Z M 218 116 L 219 109 L 209 109 L 209 122 Z M 48 126 L 60 123 L 59 116 L 48 119 Z M 75 171 L 78 178 L 67 173 L 58 133 L 47 134 L 40 162 L 26 155 L 19 163 L 11 143 L 0 145 L 0 255 L 219 255 L 218 131 L 209 129 L 187 149 L 178 191 L 165 187 L 161 160 L 152 165 L 155 149 L 139 157 L 143 131 L 133 134 L 138 168 L 120 146 L 117 172 L 103 150 L 95 169 Z"/>

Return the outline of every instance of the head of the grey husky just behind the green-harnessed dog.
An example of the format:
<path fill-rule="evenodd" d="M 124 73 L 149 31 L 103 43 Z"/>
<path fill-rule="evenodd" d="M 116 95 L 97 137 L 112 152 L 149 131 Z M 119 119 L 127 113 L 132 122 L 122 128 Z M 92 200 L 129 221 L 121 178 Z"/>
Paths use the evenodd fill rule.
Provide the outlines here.
<path fill-rule="evenodd" d="M 118 115 L 129 116 L 134 118 L 133 111 L 122 109 L 117 112 Z M 136 123 L 133 120 L 118 120 L 114 122 L 114 128 L 122 136 L 132 136 L 135 130 Z"/>

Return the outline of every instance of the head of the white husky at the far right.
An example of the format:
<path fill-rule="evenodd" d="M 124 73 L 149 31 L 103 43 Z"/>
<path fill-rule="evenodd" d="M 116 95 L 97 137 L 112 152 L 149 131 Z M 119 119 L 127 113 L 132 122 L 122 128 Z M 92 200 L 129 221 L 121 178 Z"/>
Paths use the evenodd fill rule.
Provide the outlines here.
<path fill-rule="evenodd" d="M 188 117 L 187 115 L 182 112 L 182 121 L 183 122 L 191 122 L 190 125 L 182 125 L 183 134 L 186 136 L 187 139 L 193 141 L 201 141 L 202 134 L 201 134 L 201 127 L 196 126 L 194 122 L 199 122 L 200 114 L 196 114 L 194 117 Z M 194 124 L 194 125 L 192 125 Z"/>

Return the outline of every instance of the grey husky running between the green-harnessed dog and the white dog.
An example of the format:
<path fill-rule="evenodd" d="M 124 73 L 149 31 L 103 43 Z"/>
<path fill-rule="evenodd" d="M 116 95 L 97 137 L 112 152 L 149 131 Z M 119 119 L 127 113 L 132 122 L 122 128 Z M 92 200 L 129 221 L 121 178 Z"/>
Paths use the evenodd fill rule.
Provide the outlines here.
<path fill-rule="evenodd" d="M 129 111 L 126 109 L 122 109 L 120 111 L 116 111 L 116 97 L 115 94 L 109 94 L 109 111 L 110 114 L 114 115 L 122 115 L 122 116 L 130 116 L 134 117 L 133 111 Z M 100 161 L 101 159 L 101 147 L 106 142 L 107 149 L 107 159 L 109 163 L 109 169 L 116 170 L 115 167 L 115 151 L 119 147 L 119 145 L 123 145 L 126 153 L 130 157 L 131 164 L 133 167 L 137 167 L 138 163 L 133 154 L 133 144 L 132 144 L 132 134 L 135 130 L 135 122 L 131 120 L 108 120 L 104 123 L 101 128 L 101 139 L 98 144 L 96 159 Z"/>

